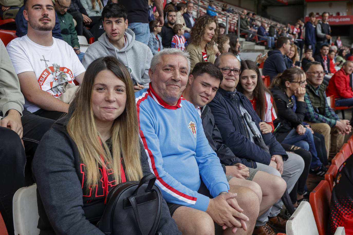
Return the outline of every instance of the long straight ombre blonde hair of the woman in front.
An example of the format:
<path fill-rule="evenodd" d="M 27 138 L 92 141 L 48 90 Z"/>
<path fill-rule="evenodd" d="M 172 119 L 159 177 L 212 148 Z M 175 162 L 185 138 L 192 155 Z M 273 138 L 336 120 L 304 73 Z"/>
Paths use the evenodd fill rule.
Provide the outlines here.
<path fill-rule="evenodd" d="M 126 86 L 126 106 L 124 112 L 114 120 L 109 147 L 102 141 L 97 131 L 92 111 L 92 91 L 95 77 L 102 70 L 110 70 Z M 140 162 L 140 139 L 137 123 L 135 95 L 130 73 L 126 66 L 112 56 L 98 58 L 87 68 L 69 109 L 70 119 L 67 132 L 76 143 L 87 177 L 86 189 L 95 187 L 101 178 L 99 167 L 106 164 L 106 169 L 113 169 L 116 183 L 121 183 L 120 164 L 124 157 L 126 180 L 140 180 L 142 167 Z M 99 138 L 100 139 L 99 139 Z M 104 163 L 102 164 L 101 157 Z"/>

